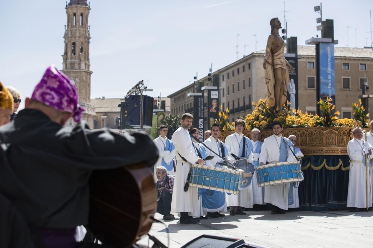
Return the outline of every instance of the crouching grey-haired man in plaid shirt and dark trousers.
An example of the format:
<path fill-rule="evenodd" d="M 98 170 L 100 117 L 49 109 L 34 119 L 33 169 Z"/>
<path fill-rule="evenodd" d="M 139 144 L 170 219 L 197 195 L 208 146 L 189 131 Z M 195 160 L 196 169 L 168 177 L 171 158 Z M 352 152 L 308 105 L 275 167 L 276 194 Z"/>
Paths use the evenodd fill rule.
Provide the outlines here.
<path fill-rule="evenodd" d="M 164 220 L 175 219 L 175 216 L 170 214 L 175 177 L 167 175 L 167 168 L 164 166 L 156 167 L 156 176 L 158 180 L 156 183 L 158 189 L 157 212 L 163 215 Z"/>

